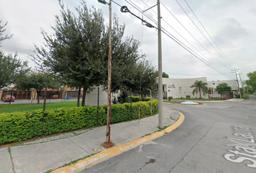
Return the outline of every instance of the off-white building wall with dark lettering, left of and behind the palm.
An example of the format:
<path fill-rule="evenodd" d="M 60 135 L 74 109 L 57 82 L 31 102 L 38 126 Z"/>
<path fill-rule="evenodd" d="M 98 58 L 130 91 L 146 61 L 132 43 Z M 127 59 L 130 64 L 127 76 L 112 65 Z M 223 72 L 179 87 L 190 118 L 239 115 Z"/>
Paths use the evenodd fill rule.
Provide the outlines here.
<path fill-rule="evenodd" d="M 194 88 L 190 88 L 190 86 L 192 86 L 196 80 L 207 83 L 206 77 L 191 78 L 191 79 L 163 78 L 164 89 L 167 88 L 167 98 L 168 97 L 186 98 L 186 95 L 190 95 L 191 98 L 195 98 L 195 97 L 199 98 L 200 97 L 199 93 L 193 95 L 192 91 Z M 204 99 L 208 99 L 208 94 L 205 94 L 204 96 L 201 92 L 201 96 Z"/>

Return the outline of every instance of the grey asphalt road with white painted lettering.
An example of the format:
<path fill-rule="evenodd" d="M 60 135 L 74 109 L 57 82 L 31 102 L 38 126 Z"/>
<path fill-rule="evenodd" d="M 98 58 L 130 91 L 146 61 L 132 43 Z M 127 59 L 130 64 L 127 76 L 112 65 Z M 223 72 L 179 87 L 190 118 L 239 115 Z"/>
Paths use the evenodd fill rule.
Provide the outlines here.
<path fill-rule="evenodd" d="M 256 99 L 164 106 L 185 115 L 179 128 L 85 172 L 256 172 Z"/>

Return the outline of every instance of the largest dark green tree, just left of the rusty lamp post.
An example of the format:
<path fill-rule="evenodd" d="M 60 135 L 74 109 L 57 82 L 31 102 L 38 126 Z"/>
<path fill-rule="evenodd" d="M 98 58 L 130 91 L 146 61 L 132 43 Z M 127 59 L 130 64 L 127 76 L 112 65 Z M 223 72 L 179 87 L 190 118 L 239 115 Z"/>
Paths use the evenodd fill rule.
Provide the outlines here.
<path fill-rule="evenodd" d="M 61 1 L 59 4 L 61 17 L 56 16 L 56 27 L 52 27 L 54 35 L 42 30 L 46 48 L 35 45 L 35 55 L 31 57 L 41 71 L 59 74 L 68 86 L 82 88 L 84 106 L 86 93 L 101 84 L 107 75 L 101 45 L 105 34 L 103 14 L 95 8 L 88 9 L 85 1 L 82 1 L 82 9 L 76 8 L 77 16 L 64 9 Z"/>

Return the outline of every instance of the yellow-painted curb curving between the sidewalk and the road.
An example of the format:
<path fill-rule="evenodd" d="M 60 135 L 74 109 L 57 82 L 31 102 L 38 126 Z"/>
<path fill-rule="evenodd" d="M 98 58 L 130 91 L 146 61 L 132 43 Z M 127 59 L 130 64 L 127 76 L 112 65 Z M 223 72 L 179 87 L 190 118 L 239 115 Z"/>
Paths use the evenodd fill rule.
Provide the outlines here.
<path fill-rule="evenodd" d="M 179 112 L 176 110 L 176 112 Z M 59 169 L 54 170 L 51 173 L 74 173 L 74 172 L 82 172 L 85 169 L 93 167 L 95 164 L 101 163 L 102 161 L 106 161 L 111 157 L 122 154 L 125 151 L 129 151 L 132 148 L 142 145 L 148 141 L 152 141 L 155 138 L 159 138 L 161 136 L 166 135 L 166 133 L 170 133 L 175 130 L 184 122 L 184 115 L 182 112 L 179 112 L 179 120 L 170 125 L 168 128 L 152 133 L 149 136 L 144 136 L 142 138 L 135 139 L 134 141 L 130 141 L 128 143 L 121 144 L 120 146 L 114 146 L 113 148 L 108 148 L 101 153 L 95 154 L 93 156 L 89 156 L 88 158 L 77 161 L 77 163 L 69 165 L 67 167 L 61 167 Z"/>

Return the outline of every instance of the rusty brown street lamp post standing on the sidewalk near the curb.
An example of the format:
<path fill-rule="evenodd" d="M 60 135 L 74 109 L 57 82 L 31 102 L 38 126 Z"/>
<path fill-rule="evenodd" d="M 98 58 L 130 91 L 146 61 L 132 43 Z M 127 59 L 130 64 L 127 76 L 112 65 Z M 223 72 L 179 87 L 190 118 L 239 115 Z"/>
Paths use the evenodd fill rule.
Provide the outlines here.
<path fill-rule="evenodd" d="M 110 141 L 110 124 L 111 124 L 111 0 L 107 3 L 105 0 L 98 0 L 101 4 L 108 4 L 109 6 L 109 46 L 108 46 L 108 116 L 106 125 L 106 142 L 103 143 L 104 148 L 111 148 L 114 143 Z"/>

